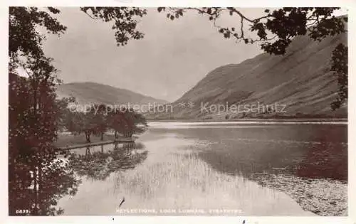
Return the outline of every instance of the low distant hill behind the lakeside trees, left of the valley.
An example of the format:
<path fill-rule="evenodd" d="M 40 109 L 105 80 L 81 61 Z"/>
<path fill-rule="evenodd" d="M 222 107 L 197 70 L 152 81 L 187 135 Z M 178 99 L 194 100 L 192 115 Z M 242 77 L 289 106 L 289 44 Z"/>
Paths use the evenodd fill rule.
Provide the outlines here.
<path fill-rule="evenodd" d="M 130 90 L 103 85 L 96 82 L 71 82 L 58 85 L 58 98 L 75 97 L 79 105 L 103 103 L 107 105 L 156 105 L 167 104 L 165 100 L 158 100 Z"/>

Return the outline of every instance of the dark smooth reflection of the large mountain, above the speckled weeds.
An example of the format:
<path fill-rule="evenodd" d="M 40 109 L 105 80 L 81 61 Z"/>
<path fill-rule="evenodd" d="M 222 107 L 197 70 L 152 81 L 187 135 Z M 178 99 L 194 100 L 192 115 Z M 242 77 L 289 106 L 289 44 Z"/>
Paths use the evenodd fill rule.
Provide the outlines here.
<path fill-rule="evenodd" d="M 347 180 L 347 129 L 343 125 L 270 125 L 244 129 L 154 129 L 195 139 L 214 169 L 251 177 L 256 173 Z"/>

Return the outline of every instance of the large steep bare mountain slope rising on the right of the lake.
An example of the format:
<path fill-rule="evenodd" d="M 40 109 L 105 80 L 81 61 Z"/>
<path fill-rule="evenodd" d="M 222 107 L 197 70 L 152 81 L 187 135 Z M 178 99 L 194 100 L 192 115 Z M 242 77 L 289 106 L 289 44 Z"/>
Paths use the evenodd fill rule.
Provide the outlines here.
<path fill-rule="evenodd" d="M 347 43 L 347 33 L 321 42 L 297 36 L 285 55 L 262 53 L 239 64 L 216 68 L 173 102 L 172 107 L 167 107 L 168 112 L 146 116 L 149 119 L 347 117 L 347 106 L 335 112 L 330 108 L 337 96 L 337 77 L 330 72 L 330 59 L 339 43 Z M 276 104 L 279 109 L 274 107 L 269 112 L 249 109 L 251 105 L 271 108 Z M 236 105 L 234 110 L 229 110 L 231 105 Z M 216 107 L 221 108 L 220 112 Z"/>

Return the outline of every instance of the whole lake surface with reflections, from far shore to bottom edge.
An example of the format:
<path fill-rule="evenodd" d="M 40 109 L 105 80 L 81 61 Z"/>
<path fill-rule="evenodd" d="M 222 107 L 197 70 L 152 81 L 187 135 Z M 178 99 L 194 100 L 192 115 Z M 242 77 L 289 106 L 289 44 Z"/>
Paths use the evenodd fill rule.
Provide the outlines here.
<path fill-rule="evenodd" d="M 78 183 L 63 215 L 347 212 L 345 124 L 149 125 L 136 144 L 71 150 Z"/>

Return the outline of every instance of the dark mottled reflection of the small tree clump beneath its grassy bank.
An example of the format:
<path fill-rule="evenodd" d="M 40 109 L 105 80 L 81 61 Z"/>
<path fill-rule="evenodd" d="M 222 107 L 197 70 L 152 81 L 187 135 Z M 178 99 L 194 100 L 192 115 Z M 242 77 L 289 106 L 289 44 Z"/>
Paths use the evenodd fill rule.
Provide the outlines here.
<path fill-rule="evenodd" d="M 112 150 L 104 150 L 100 146 L 100 151 L 90 151 L 90 147 L 85 149 L 85 154 L 71 153 L 68 157 L 69 167 L 78 176 L 86 176 L 93 180 L 104 181 L 115 171 L 125 171 L 134 169 L 137 164 L 147 159 L 147 150 L 143 144 L 124 143 L 122 146 L 114 144 Z"/>

